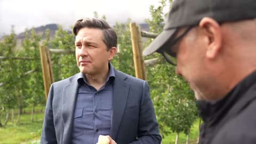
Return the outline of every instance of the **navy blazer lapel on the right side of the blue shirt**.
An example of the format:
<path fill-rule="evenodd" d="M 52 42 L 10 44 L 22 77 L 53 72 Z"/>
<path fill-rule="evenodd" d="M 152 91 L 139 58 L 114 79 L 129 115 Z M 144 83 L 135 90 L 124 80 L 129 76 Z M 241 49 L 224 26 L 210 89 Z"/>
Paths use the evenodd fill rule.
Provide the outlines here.
<path fill-rule="evenodd" d="M 115 69 L 114 69 L 115 70 Z M 110 137 L 116 139 L 119 126 L 122 122 L 130 84 L 125 82 L 127 77 L 115 70 L 115 84 L 113 90 L 113 104 L 111 116 Z"/>

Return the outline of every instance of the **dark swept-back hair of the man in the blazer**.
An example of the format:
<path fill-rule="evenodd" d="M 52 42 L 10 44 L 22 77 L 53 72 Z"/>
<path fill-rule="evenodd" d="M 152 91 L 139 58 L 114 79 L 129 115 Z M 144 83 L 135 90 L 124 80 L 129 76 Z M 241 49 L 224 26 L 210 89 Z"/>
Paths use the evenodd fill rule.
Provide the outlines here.
<path fill-rule="evenodd" d="M 97 28 L 103 32 L 103 42 L 107 46 L 107 50 L 117 45 L 117 35 L 113 27 L 109 26 L 105 20 L 97 18 L 85 18 L 76 21 L 73 27 L 73 33 L 76 36 L 82 28 Z"/>

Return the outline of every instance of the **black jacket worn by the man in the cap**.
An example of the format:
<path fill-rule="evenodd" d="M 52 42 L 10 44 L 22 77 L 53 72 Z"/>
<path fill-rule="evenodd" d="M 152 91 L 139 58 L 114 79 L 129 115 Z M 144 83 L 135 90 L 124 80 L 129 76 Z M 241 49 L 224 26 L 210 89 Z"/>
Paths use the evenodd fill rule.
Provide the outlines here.
<path fill-rule="evenodd" d="M 256 143 L 256 71 L 243 79 L 225 98 L 211 104 L 198 102 L 200 144 Z"/>

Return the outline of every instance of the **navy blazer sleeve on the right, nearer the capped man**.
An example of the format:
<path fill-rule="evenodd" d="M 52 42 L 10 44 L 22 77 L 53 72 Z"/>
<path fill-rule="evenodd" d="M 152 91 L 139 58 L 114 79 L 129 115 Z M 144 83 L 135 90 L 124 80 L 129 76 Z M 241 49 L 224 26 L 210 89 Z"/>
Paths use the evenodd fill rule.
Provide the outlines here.
<path fill-rule="evenodd" d="M 149 85 L 144 81 L 140 103 L 138 140 L 132 142 L 132 144 L 157 144 L 161 143 L 161 141 L 162 137 L 159 134 L 155 110 L 149 94 Z"/>

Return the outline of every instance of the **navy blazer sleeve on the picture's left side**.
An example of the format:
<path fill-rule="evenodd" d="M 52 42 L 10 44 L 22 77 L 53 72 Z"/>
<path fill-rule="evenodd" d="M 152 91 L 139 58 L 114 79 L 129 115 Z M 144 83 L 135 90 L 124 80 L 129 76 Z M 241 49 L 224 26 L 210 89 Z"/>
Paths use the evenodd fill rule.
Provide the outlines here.
<path fill-rule="evenodd" d="M 41 143 L 57 143 L 55 127 L 53 123 L 53 111 L 52 111 L 52 100 L 53 100 L 53 84 L 50 87 L 50 92 L 48 94 L 44 123 L 41 135 Z"/>

